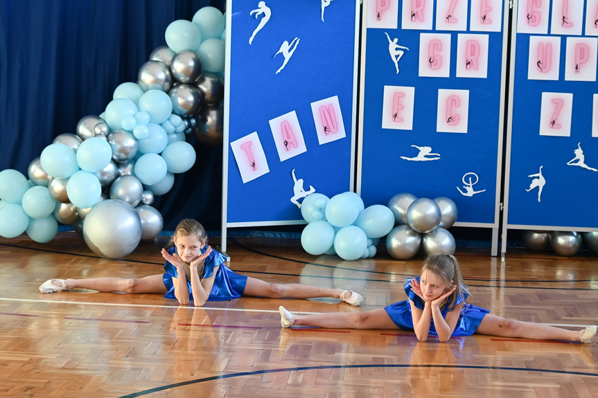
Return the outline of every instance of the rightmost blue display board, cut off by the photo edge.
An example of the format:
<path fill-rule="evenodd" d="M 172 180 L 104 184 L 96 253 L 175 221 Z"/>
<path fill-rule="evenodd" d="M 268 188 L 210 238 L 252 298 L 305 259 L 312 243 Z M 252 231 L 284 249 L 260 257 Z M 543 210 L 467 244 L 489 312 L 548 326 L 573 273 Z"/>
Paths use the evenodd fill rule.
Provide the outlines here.
<path fill-rule="evenodd" d="M 595 229 L 598 0 L 520 0 L 516 11 L 505 226 Z"/>

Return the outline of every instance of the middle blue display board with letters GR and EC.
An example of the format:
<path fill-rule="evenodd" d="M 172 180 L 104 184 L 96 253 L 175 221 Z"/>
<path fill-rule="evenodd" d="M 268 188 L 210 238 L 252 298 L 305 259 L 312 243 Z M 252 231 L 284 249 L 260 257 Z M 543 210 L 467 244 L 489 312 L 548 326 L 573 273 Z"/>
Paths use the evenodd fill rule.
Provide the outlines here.
<path fill-rule="evenodd" d="M 366 206 L 399 192 L 449 197 L 455 225 L 498 230 L 504 3 L 364 2 L 358 192 Z"/>

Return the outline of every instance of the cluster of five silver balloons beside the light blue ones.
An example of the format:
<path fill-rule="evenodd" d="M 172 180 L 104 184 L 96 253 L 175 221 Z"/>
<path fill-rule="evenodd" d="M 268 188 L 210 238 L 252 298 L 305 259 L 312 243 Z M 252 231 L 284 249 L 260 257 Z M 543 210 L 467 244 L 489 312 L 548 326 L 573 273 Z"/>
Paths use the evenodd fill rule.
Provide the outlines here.
<path fill-rule="evenodd" d="M 455 238 L 448 228 L 457 220 L 457 205 L 447 197 L 417 198 L 398 193 L 388 207 L 397 226 L 386 237 L 387 251 L 398 260 L 409 260 L 420 248 L 426 254 L 455 253 Z"/>

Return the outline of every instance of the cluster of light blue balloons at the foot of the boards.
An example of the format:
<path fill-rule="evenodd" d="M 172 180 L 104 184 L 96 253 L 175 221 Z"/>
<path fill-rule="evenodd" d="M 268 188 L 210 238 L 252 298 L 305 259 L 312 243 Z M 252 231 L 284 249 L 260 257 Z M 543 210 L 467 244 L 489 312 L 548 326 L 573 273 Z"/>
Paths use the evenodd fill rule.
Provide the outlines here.
<path fill-rule="evenodd" d="M 301 203 L 308 225 L 301 233 L 301 246 L 313 255 L 337 254 L 343 260 L 376 255 L 376 245 L 394 226 L 387 206 L 364 208 L 359 195 L 344 192 L 328 199 L 313 193 Z"/>

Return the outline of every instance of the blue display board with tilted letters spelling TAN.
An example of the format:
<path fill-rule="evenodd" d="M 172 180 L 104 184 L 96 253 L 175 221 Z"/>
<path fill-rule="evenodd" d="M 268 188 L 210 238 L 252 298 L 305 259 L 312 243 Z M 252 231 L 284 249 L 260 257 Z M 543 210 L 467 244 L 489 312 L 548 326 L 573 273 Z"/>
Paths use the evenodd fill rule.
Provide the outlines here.
<path fill-rule="evenodd" d="M 299 224 L 308 192 L 353 189 L 358 10 L 228 1 L 223 230 Z"/>

